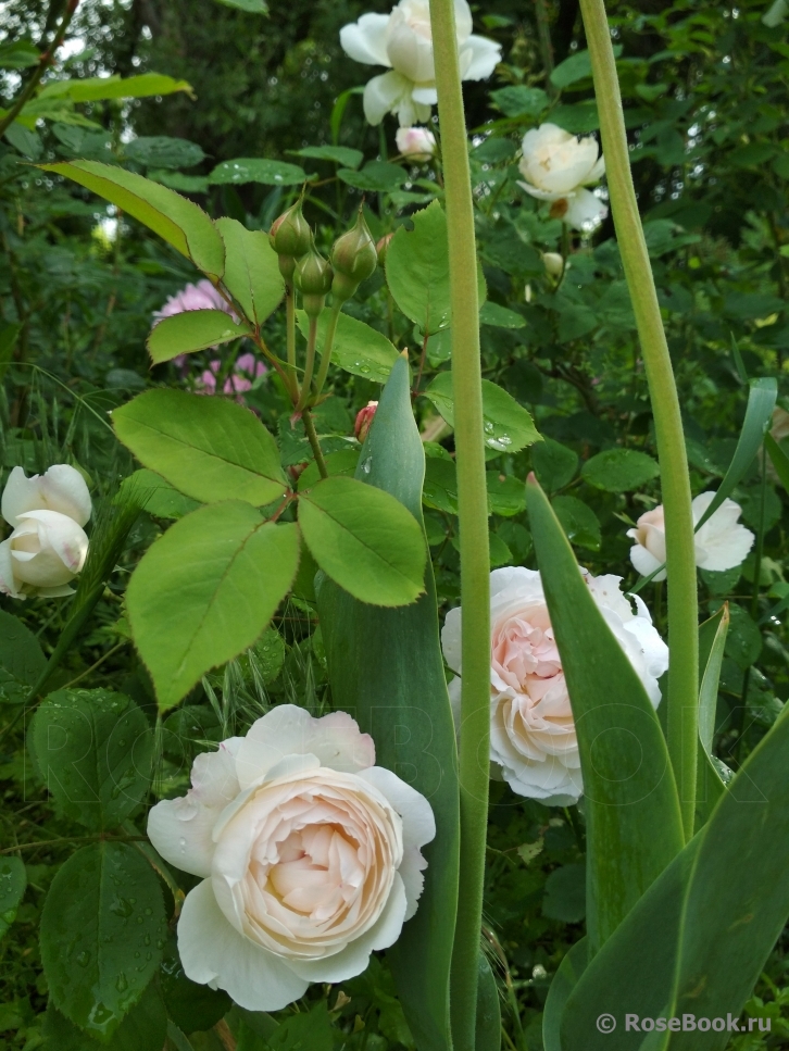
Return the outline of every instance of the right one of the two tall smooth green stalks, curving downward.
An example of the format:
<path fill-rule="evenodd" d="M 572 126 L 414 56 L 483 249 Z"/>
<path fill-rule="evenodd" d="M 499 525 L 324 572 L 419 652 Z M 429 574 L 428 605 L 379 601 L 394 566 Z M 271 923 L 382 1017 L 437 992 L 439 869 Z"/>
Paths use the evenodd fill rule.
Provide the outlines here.
<path fill-rule="evenodd" d="M 619 83 L 603 0 L 580 0 L 591 55 L 611 207 L 636 315 L 652 416 L 666 529 L 668 571 L 668 754 L 679 789 L 687 839 L 693 835 L 698 749 L 699 639 L 690 478 L 679 398 L 652 267 L 638 213 Z"/>

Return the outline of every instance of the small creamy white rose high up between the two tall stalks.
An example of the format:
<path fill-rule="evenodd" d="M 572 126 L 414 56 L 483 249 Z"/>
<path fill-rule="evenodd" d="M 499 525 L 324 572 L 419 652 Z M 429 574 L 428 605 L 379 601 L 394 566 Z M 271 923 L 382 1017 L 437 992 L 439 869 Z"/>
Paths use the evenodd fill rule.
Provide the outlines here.
<path fill-rule="evenodd" d="M 593 136 L 578 139 L 555 124 L 541 124 L 523 138 L 518 167 L 526 179 L 518 183 L 540 201 L 552 201 L 551 215 L 576 229 L 597 226 L 609 210 L 591 190 L 605 172 Z"/>

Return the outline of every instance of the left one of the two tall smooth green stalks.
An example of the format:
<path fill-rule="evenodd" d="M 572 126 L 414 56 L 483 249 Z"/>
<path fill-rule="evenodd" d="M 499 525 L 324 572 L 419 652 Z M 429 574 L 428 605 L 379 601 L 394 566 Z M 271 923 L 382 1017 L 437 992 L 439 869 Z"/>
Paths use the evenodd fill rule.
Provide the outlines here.
<path fill-rule="evenodd" d="M 452 0 L 430 0 L 430 22 L 447 192 L 463 606 L 461 860 L 451 1013 L 455 1051 L 474 1051 L 490 750 L 488 504 L 474 204 Z"/>

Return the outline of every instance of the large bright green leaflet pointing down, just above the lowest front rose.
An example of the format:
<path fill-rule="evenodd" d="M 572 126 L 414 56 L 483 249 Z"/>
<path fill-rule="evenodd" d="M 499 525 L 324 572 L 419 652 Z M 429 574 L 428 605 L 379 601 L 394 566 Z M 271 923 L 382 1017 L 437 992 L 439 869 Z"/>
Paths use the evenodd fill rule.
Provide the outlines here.
<path fill-rule="evenodd" d="M 240 500 L 192 512 L 148 549 L 126 603 L 161 711 L 253 645 L 298 562 L 296 526 L 265 523 Z"/>

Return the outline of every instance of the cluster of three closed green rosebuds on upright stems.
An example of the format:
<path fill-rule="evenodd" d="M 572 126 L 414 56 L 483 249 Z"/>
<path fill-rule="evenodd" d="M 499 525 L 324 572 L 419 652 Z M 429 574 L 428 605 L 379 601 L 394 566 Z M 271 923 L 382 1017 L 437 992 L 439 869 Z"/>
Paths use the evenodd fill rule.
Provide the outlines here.
<path fill-rule="evenodd" d="M 317 317 L 329 292 L 335 304 L 350 299 L 378 265 L 375 241 L 361 209 L 355 225 L 335 241 L 328 260 L 315 247 L 301 201 L 275 220 L 268 237 L 279 260 L 279 272 L 288 285 L 301 292 L 309 317 Z"/>

